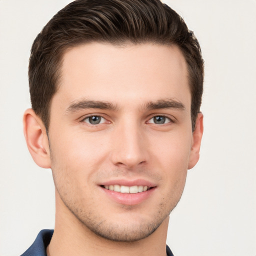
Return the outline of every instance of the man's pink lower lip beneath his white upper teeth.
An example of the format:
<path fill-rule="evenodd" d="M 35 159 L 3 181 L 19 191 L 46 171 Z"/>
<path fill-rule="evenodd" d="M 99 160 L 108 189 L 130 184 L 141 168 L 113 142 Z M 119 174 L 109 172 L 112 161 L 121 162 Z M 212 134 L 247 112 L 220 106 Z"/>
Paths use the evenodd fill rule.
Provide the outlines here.
<path fill-rule="evenodd" d="M 135 205 L 146 200 L 155 190 L 156 187 L 152 187 L 146 191 L 138 192 L 138 193 L 121 193 L 115 192 L 110 189 L 106 189 L 104 187 L 100 187 L 103 192 L 106 193 L 112 200 L 117 203 L 124 205 Z"/>

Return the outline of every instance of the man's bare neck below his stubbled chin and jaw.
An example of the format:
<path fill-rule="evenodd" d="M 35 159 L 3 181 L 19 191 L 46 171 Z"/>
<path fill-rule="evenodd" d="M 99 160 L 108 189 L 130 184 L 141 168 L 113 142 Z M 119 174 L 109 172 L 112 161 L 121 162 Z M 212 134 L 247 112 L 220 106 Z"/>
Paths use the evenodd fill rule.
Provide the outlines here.
<path fill-rule="evenodd" d="M 132 242 L 111 241 L 89 230 L 64 206 L 60 198 L 56 198 L 55 228 L 46 250 L 47 256 L 165 256 L 168 219 L 166 217 L 146 238 Z"/>

